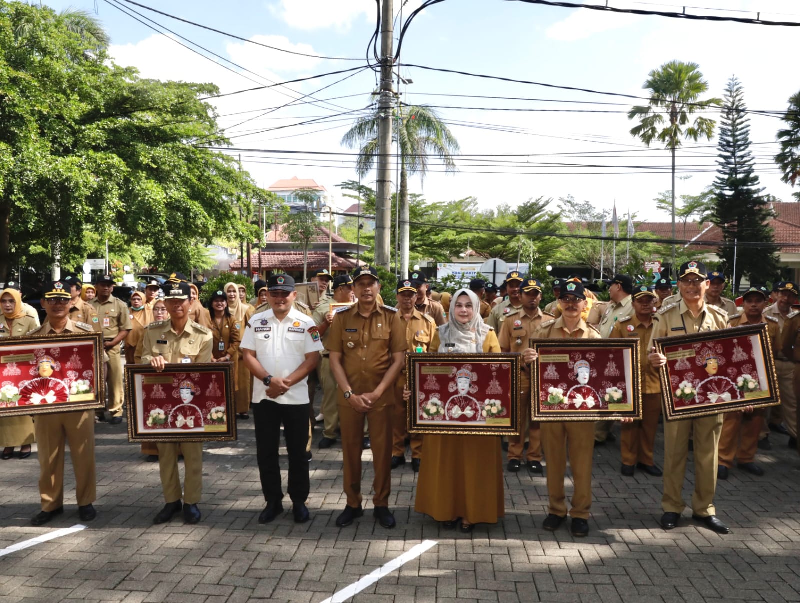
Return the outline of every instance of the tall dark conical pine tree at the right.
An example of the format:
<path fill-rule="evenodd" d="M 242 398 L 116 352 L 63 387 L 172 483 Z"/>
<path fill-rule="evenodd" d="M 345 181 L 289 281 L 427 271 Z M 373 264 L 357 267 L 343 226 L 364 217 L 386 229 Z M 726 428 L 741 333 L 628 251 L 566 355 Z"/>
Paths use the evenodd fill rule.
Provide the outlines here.
<path fill-rule="evenodd" d="M 774 233 L 767 223 L 774 212 L 754 174 L 749 122 L 744 90 L 733 76 L 725 90 L 719 128 L 719 168 L 714 181 L 712 220 L 722 229 L 723 241 L 728 243 L 719 248 L 718 255 L 726 273 L 734 276 L 734 291 L 738 291 L 743 275 L 750 282 L 766 282 L 778 272 Z M 754 242 L 763 245 L 752 245 Z"/>

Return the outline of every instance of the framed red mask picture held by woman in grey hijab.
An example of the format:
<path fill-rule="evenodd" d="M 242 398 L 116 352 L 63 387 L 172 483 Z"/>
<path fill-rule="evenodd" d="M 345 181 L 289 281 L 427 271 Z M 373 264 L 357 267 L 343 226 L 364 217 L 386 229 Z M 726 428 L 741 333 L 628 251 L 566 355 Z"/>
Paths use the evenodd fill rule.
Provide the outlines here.
<path fill-rule="evenodd" d="M 519 433 L 516 353 L 410 353 L 410 433 Z"/>

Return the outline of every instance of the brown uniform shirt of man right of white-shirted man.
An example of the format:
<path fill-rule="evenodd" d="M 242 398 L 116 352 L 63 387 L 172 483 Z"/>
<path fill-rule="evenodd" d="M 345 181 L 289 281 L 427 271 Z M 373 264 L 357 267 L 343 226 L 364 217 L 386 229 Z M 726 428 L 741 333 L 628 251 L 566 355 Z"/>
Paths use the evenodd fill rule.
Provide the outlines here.
<path fill-rule="evenodd" d="M 342 353 L 342 367 L 355 393 L 371 392 L 389 370 L 392 354 L 408 349 L 406 325 L 389 305 L 376 304 L 370 316 L 364 317 L 356 303 L 336 313 L 328 329 L 327 349 Z"/>

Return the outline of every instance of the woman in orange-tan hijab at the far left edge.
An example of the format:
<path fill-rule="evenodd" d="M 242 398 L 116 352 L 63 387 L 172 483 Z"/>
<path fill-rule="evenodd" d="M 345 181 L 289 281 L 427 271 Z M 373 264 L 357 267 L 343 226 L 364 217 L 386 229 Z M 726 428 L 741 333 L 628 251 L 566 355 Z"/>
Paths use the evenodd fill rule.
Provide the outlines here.
<path fill-rule="evenodd" d="M 22 305 L 22 294 L 16 289 L 8 287 L 2 290 L 0 308 L 3 315 L 0 337 L 24 335 L 38 326 L 38 321 L 26 314 Z M 34 420 L 30 415 L 0 419 L 0 444 L 5 446 L 2 451 L 3 459 L 14 456 L 15 446 L 22 446 L 19 449 L 20 458 L 30 457 L 30 445 L 34 441 Z"/>

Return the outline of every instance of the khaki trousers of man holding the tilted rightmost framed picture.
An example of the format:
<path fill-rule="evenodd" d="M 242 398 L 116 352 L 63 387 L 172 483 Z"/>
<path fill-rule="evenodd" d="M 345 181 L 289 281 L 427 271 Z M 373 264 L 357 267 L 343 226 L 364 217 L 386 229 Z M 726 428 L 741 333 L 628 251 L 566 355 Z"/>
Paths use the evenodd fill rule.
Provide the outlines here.
<path fill-rule="evenodd" d="M 700 517 L 716 515 L 714 492 L 717 489 L 722 421 L 722 414 L 712 414 L 664 423 L 664 496 L 661 502 L 665 512 L 682 513 L 686 507 L 682 489 L 689 458 L 689 436 L 694 428 L 692 512 Z"/>

